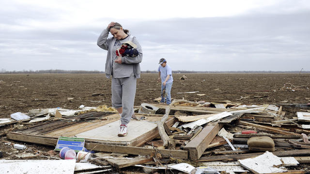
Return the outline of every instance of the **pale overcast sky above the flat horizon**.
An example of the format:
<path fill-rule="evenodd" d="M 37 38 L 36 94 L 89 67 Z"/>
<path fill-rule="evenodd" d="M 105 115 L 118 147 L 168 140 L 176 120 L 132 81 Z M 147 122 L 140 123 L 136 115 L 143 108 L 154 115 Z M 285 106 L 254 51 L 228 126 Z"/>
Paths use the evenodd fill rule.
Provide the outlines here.
<path fill-rule="evenodd" d="M 0 70 L 104 71 L 111 21 L 142 71 L 310 71 L 310 0 L 0 0 Z"/>

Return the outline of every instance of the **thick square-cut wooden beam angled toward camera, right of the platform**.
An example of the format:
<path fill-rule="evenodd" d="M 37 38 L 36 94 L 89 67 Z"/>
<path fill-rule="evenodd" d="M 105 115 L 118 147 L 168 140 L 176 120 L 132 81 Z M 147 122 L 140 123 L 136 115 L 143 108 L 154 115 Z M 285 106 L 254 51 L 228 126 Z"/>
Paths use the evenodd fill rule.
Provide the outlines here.
<path fill-rule="evenodd" d="M 190 160 L 198 160 L 202 156 L 205 149 L 217 135 L 219 129 L 220 126 L 218 124 L 204 127 L 202 131 L 184 147 L 189 153 Z"/>

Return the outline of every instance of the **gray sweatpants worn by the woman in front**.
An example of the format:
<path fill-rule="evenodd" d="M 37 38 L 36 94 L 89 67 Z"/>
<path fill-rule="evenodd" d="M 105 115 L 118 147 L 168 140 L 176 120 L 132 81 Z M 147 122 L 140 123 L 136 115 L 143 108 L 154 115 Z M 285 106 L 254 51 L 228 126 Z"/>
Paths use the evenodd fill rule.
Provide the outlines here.
<path fill-rule="evenodd" d="M 134 113 L 134 102 L 136 95 L 136 76 L 113 78 L 112 77 L 112 106 L 123 107 L 121 123 L 127 125 Z"/>

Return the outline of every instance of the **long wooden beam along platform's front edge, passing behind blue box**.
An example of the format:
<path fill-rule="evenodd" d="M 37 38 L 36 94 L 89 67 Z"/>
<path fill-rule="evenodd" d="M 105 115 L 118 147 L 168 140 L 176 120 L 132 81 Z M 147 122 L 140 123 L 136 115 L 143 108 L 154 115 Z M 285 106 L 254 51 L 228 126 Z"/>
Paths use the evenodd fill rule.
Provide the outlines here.
<path fill-rule="evenodd" d="M 7 133 L 7 138 L 16 141 L 22 141 L 39 145 L 49 145 L 49 146 L 56 146 L 58 141 L 58 137 L 22 134 L 17 132 Z M 95 151 L 115 152 L 115 153 L 124 153 L 132 155 L 152 155 L 153 153 L 160 153 L 162 157 L 173 157 L 180 159 L 187 159 L 188 156 L 188 152 L 185 150 L 153 149 L 145 147 L 125 146 L 125 145 L 99 144 L 89 142 L 88 140 L 85 140 L 85 147 L 87 149 L 92 149 Z"/>

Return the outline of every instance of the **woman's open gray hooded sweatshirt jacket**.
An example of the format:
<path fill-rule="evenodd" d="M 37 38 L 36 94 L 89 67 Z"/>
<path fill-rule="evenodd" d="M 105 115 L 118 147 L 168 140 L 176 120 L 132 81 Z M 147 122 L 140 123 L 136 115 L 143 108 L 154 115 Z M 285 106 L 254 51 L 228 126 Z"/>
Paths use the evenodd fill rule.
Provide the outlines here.
<path fill-rule="evenodd" d="M 139 52 L 139 55 L 136 57 L 124 56 L 122 57 L 122 63 L 131 64 L 133 66 L 135 76 L 137 78 L 140 78 L 140 62 L 142 61 L 142 48 L 135 36 L 131 36 L 130 33 L 127 33 L 127 34 L 129 35 L 128 37 L 131 37 L 130 38 L 131 42 L 137 45 L 137 50 Z M 113 63 L 112 62 L 113 61 L 112 48 L 113 48 L 113 45 L 116 39 L 114 37 L 111 37 L 108 39 L 108 35 L 109 35 L 109 30 L 104 29 L 98 38 L 97 45 L 104 50 L 108 50 L 105 73 L 106 73 L 106 77 L 110 78 L 110 76 L 112 75 L 112 63 Z"/>

